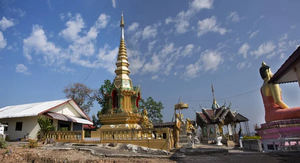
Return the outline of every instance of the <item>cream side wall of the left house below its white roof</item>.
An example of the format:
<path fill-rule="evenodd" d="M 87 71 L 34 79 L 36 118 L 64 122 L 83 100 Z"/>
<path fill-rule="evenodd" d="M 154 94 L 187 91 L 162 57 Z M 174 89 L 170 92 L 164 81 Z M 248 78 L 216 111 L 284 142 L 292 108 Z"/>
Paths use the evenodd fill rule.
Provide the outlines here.
<path fill-rule="evenodd" d="M 12 118 L 0 118 L 1 123 L 8 123 L 7 131 L 5 134 L 10 134 L 10 139 L 23 138 L 24 135 L 29 133 L 29 138 L 33 139 L 36 136 L 39 126 L 36 118 L 38 116 L 25 116 L 25 117 L 12 117 Z M 16 122 L 23 122 L 22 130 L 15 130 Z"/>

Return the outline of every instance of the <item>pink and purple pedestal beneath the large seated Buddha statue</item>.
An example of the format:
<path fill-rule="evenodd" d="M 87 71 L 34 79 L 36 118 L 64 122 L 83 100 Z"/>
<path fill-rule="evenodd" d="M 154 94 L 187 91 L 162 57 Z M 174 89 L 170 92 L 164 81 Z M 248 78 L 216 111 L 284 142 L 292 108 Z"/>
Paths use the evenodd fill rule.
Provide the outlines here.
<path fill-rule="evenodd" d="M 276 120 L 260 124 L 260 140 L 300 138 L 300 119 Z"/>

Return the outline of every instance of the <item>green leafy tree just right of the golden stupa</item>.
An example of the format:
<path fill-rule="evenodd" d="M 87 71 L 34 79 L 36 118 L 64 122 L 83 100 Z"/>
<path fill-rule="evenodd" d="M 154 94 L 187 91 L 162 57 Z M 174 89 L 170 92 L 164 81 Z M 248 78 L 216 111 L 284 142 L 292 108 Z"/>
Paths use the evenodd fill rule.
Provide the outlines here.
<path fill-rule="evenodd" d="M 152 120 L 152 122 L 162 122 L 162 114 L 160 111 L 164 108 L 161 101 L 156 102 L 153 100 L 152 97 L 148 97 L 146 101 L 144 99 L 139 99 L 139 111 L 142 112 L 142 110 L 146 108 L 148 112 L 148 118 L 149 120 Z"/>

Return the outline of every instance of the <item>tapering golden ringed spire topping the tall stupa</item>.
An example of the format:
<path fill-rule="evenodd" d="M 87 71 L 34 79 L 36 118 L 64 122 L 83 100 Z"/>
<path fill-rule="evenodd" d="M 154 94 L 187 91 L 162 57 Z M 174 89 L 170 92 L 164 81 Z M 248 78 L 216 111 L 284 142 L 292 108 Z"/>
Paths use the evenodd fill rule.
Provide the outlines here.
<path fill-rule="evenodd" d="M 116 76 L 114 77 L 114 80 L 118 79 L 127 79 L 131 80 L 128 76 L 130 73 L 130 70 L 128 69 L 129 62 L 127 58 L 127 52 L 125 47 L 125 41 L 124 41 L 124 20 L 123 20 L 123 11 L 121 14 L 121 21 L 120 21 L 120 27 L 121 27 L 121 40 L 119 45 L 119 50 L 117 54 L 117 61 L 115 63 L 116 69 L 114 70 Z"/>

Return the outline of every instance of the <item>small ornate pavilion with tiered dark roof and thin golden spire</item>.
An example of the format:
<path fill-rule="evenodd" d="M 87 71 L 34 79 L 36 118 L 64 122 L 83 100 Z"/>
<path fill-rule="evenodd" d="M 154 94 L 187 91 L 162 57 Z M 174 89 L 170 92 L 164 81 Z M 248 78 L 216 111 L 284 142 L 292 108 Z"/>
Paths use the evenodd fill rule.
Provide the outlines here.
<path fill-rule="evenodd" d="M 238 142 L 237 132 L 236 132 L 236 124 L 240 122 L 244 122 L 244 128 L 246 135 L 249 134 L 249 126 L 248 119 L 242 116 L 236 111 L 232 111 L 230 109 L 231 102 L 226 107 L 225 103 L 222 106 L 219 106 L 214 97 L 214 89 L 211 84 L 213 102 L 211 108 L 201 108 L 201 112 L 196 112 L 196 124 L 200 126 L 202 130 L 201 134 L 201 142 L 202 143 L 214 143 L 216 138 L 223 139 L 222 142 L 226 143 L 226 141 L 234 141 Z M 224 135 L 223 126 L 227 126 L 227 135 Z M 221 137 L 222 136 L 222 137 Z M 224 140 L 225 139 L 225 140 Z"/>

